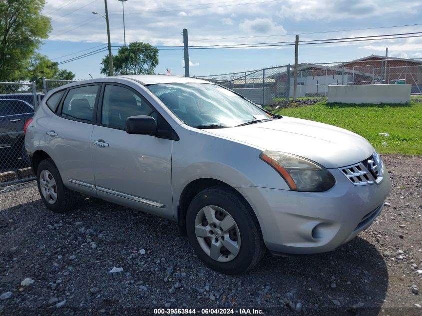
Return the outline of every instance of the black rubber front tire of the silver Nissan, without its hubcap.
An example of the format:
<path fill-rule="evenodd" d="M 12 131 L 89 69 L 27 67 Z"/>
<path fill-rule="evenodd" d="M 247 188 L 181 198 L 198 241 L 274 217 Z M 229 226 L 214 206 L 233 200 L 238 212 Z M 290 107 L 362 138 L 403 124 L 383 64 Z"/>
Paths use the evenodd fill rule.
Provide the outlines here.
<path fill-rule="evenodd" d="M 212 259 L 198 242 L 195 234 L 196 216 L 201 209 L 210 205 L 223 209 L 233 218 L 237 225 L 241 243 L 237 255 L 231 261 L 220 262 Z M 234 189 L 217 186 L 198 193 L 187 210 L 186 230 L 196 255 L 208 267 L 220 273 L 229 275 L 241 274 L 252 269 L 265 253 L 266 248 L 258 220 L 250 205 Z M 222 251 L 220 250 L 220 252 Z"/>

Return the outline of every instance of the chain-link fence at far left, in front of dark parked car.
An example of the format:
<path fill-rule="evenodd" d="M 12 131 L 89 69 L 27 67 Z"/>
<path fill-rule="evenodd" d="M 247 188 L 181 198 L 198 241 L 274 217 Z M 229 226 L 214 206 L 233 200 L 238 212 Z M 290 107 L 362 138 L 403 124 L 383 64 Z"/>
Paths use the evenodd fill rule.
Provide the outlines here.
<path fill-rule="evenodd" d="M 43 96 L 35 82 L 0 82 L 0 185 L 33 178 L 24 138 Z"/>

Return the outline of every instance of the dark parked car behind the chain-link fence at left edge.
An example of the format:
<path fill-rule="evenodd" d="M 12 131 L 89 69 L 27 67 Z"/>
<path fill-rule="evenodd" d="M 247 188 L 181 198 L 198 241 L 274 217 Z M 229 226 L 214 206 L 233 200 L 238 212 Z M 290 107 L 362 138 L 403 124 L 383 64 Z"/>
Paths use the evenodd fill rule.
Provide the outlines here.
<path fill-rule="evenodd" d="M 34 114 L 31 104 L 17 99 L 0 99 L 0 161 L 1 167 L 16 165 L 22 157 L 24 165 L 30 163 L 24 147 L 24 129 Z"/>

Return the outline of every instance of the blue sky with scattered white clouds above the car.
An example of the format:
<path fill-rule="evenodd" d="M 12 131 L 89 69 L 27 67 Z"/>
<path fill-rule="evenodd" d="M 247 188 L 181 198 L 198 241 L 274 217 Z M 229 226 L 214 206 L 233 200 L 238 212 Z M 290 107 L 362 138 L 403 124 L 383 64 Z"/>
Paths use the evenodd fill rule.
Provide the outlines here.
<path fill-rule="evenodd" d="M 123 44 L 122 3 L 118 0 L 107 3 L 112 45 L 119 46 Z M 422 32 L 422 25 L 364 29 L 422 23 L 420 0 L 197 0 L 192 3 L 127 0 L 124 2 L 126 42 L 181 46 L 183 28 L 188 29 L 190 45 L 286 42 L 294 41 L 296 33 L 335 30 L 340 31 L 301 34 L 300 40 Z M 43 12 L 51 17 L 53 29 L 43 41 L 40 53 L 61 62 L 106 47 L 105 20 L 92 11 L 103 13 L 104 1 L 47 1 Z M 348 29 L 354 30 L 344 31 Z M 299 63 L 341 62 L 371 54 L 384 55 L 386 46 L 390 56 L 422 58 L 422 37 L 414 37 L 300 45 Z M 99 52 L 59 67 L 73 71 L 76 79 L 103 76 L 100 62 L 106 53 Z M 293 63 L 294 46 L 190 49 L 189 55 L 191 75 L 210 75 Z M 183 50 L 160 50 L 155 71 L 164 73 L 168 68 L 172 74 L 184 74 L 182 58 Z"/>

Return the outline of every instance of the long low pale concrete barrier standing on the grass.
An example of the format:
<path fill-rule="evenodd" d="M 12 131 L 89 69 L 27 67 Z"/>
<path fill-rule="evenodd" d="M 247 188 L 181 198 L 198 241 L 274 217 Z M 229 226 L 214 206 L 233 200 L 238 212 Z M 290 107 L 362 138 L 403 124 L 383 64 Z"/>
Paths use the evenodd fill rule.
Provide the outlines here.
<path fill-rule="evenodd" d="M 412 84 L 355 84 L 328 86 L 328 103 L 409 103 Z"/>

